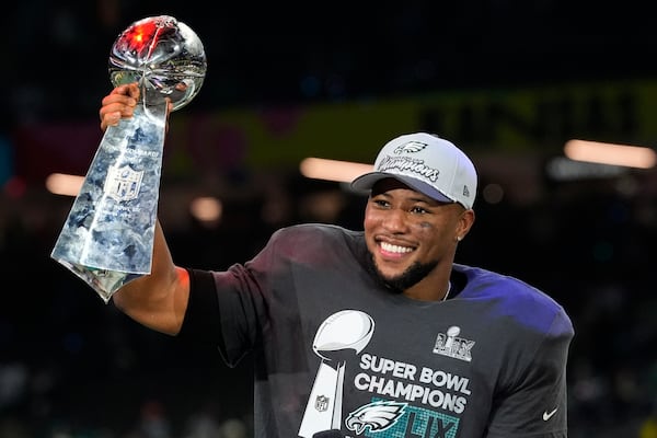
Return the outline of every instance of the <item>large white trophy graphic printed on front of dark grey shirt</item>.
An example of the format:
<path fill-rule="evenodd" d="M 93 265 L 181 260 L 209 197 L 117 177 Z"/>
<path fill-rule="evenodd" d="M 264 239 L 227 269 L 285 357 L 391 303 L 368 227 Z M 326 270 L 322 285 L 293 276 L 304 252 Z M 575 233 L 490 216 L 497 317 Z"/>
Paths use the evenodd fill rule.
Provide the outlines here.
<path fill-rule="evenodd" d="M 341 428 L 345 364 L 362 351 L 373 332 L 374 321 L 357 310 L 334 313 L 320 325 L 312 348 L 322 361 L 308 397 L 300 437 L 312 438 L 316 433 Z"/>

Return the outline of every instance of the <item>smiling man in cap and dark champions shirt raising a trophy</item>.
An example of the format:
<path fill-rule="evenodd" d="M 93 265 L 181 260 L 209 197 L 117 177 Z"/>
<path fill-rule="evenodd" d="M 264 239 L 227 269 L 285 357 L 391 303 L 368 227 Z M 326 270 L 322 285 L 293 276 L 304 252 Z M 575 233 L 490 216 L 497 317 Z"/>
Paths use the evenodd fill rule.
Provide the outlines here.
<path fill-rule="evenodd" d="M 101 128 L 138 89 L 103 99 Z M 451 142 L 392 139 L 364 231 L 275 232 L 226 272 L 178 267 L 157 224 L 152 273 L 113 296 L 153 330 L 209 341 L 229 366 L 253 353 L 255 434 L 289 437 L 566 437 L 564 309 L 523 281 L 456 264 L 477 175 Z"/>

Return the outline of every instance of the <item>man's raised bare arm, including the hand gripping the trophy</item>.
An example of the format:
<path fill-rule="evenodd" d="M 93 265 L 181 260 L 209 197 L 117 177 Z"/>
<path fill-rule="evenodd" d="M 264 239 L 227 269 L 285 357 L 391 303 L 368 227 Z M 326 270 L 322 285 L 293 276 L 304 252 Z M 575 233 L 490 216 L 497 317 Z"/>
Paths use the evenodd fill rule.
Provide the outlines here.
<path fill-rule="evenodd" d="M 101 129 L 132 116 L 139 99 L 137 84 L 119 85 L 103 97 Z M 117 290 L 112 301 L 135 321 L 155 331 L 180 332 L 189 297 L 189 277 L 173 263 L 162 227 L 155 223 L 151 274 L 137 278 Z"/>

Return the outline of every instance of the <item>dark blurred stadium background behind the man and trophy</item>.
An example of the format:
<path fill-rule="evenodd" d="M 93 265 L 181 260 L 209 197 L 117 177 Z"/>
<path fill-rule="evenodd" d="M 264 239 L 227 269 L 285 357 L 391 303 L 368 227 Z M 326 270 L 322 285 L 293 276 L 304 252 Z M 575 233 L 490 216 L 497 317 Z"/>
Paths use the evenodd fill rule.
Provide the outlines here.
<path fill-rule="evenodd" d="M 364 199 L 299 173 L 368 163 L 392 137 L 440 134 L 481 173 L 458 261 L 516 275 L 576 326 L 569 436 L 657 436 L 655 169 L 563 158 L 573 138 L 654 148 L 654 14 L 634 1 L 367 4 L 25 0 L 4 7 L 0 110 L 0 437 L 249 437 L 251 369 L 105 306 L 49 258 L 101 139 L 107 57 L 171 14 L 208 74 L 172 118 L 161 218 L 176 262 L 228 267 L 299 221 L 361 227 Z M 220 219 L 193 200 L 221 200 Z M 653 429 L 650 429 L 653 424 Z M 652 431 L 650 431 L 652 430 Z M 653 435 L 650 435 L 653 434 Z"/>

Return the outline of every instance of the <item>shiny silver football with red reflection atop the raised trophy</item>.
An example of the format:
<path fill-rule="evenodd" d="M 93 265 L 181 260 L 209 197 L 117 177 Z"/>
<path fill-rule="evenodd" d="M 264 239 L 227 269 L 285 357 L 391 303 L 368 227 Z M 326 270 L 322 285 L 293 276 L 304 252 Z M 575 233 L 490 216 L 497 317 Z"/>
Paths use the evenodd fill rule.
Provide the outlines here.
<path fill-rule="evenodd" d="M 173 111 L 196 96 L 206 69 L 205 50 L 196 33 L 170 15 L 134 22 L 116 38 L 110 56 L 114 87 L 138 82 L 147 105 L 169 97 Z"/>

